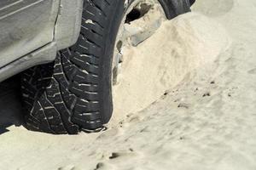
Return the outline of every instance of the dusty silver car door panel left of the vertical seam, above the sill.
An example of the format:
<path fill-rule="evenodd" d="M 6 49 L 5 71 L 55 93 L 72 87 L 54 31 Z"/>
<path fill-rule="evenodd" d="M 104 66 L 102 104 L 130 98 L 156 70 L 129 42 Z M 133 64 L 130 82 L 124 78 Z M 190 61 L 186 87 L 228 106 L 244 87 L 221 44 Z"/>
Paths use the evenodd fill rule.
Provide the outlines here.
<path fill-rule="evenodd" d="M 0 68 L 53 41 L 60 0 L 0 0 Z"/>

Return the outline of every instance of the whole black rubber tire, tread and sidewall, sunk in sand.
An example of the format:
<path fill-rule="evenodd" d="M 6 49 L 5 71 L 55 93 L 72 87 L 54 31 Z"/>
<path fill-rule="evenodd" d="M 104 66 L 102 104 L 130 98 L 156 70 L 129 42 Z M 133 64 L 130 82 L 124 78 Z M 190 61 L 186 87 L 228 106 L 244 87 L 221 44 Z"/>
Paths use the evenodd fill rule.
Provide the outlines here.
<path fill-rule="evenodd" d="M 27 129 L 76 134 L 83 129 L 94 131 L 108 123 L 113 111 L 113 48 L 125 14 L 124 2 L 84 0 L 78 42 L 59 52 L 54 63 L 22 73 Z M 189 0 L 160 3 L 168 19 L 189 12 Z"/>

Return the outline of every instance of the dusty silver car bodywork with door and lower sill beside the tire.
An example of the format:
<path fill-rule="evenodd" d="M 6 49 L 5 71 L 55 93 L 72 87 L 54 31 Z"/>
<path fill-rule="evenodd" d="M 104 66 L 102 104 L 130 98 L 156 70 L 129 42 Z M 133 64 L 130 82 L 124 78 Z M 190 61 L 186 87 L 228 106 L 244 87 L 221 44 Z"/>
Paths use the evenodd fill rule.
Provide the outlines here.
<path fill-rule="evenodd" d="M 79 37 L 83 0 L 0 0 L 0 82 Z"/>

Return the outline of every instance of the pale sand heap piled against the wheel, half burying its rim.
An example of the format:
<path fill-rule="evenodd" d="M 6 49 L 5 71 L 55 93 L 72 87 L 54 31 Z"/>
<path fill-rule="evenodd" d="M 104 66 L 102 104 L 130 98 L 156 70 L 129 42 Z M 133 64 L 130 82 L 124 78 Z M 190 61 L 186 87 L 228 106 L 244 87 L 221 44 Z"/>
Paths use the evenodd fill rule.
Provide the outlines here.
<path fill-rule="evenodd" d="M 142 111 L 229 44 L 224 28 L 204 15 L 166 21 L 154 36 L 126 51 L 119 85 L 113 88 L 113 115 Z"/>

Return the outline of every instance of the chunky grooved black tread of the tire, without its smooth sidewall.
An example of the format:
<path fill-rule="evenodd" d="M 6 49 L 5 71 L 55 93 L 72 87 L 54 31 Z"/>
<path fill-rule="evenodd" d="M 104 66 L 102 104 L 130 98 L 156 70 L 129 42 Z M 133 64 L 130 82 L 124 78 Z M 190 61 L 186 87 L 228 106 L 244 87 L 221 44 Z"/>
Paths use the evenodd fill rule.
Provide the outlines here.
<path fill-rule="evenodd" d="M 58 53 L 54 63 L 38 65 L 22 74 L 28 129 L 76 134 L 81 129 L 102 127 L 98 92 L 108 14 L 102 10 L 108 5 L 105 1 L 85 1 L 78 42 Z"/>

